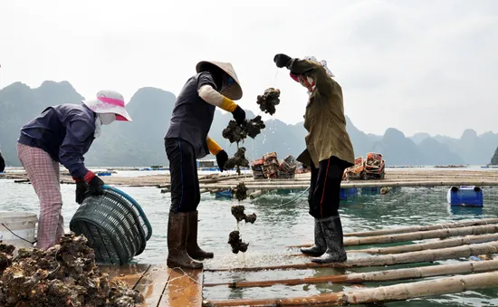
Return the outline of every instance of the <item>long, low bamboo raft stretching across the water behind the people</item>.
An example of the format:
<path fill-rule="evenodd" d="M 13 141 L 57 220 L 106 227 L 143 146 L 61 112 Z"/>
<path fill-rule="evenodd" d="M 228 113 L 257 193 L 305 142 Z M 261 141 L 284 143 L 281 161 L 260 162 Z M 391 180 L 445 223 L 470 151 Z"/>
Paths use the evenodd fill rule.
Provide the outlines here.
<path fill-rule="evenodd" d="M 199 185 L 205 191 L 218 191 L 234 188 L 244 182 L 251 192 L 259 190 L 300 190 L 310 186 L 310 173 L 296 174 L 293 178 L 282 179 L 254 179 L 252 174 L 226 174 L 216 172 L 209 175 L 199 175 Z M 27 183 L 29 179 L 23 171 L 7 171 L 0 174 L 0 179 L 14 179 L 19 183 Z M 129 187 L 161 187 L 168 190 L 169 175 L 144 175 L 138 177 L 110 176 L 105 183 L 116 186 Z M 61 173 L 61 183 L 74 184 L 72 177 Z M 493 187 L 498 186 L 498 171 L 470 170 L 470 169 L 388 169 L 382 179 L 371 180 L 343 180 L 342 188 L 369 188 L 369 187 Z"/>

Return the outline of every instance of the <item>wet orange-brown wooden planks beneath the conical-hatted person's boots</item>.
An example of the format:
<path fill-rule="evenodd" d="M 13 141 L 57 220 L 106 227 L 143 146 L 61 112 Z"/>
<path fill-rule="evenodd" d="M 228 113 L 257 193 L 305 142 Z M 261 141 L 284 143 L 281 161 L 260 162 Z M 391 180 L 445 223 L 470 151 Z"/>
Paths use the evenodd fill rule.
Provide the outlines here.
<path fill-rule="evenodd" d="M 145 297 L 140 307 L 187 307 L 202 305 L 202 270 L 170 269 L 166 264 L 104 266 L 109 273 Z"/>

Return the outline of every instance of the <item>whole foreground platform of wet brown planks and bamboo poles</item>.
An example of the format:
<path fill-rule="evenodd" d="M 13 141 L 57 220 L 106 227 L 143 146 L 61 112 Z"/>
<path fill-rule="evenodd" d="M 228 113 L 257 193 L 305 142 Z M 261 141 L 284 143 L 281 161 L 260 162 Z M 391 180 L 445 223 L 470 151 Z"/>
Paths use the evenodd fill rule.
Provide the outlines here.
<path fill-rule="evenodd" d="M 304 254 L 292 254 L 298 252 L 300 246 L 305 246 L 294 245 L 287 246 L 289 254 L 283 258 L 283 264 L 205 267 L 204 270 L 133 264 L 103 267 L 102 272 L 129 283 L 130 287 L 142 293 L 146 301 L 140 307 L 361 305 L 498 288 L 498 259 L 493 256 L 498 253 L 498 218 L 375 229 L 347 233 L 344 240 L 345 245 L 354 247 L 347 247 L 348 261 L 338 264 L 314 264 Z M 387 243 L 389 246 L 385 245 Z M 446 260 L 454 261 L 435 264 Z M 255 263 L 261 262 L 256 260 Z M 399 264 L 404 264 L 404 267 L 397 268 Z M 367 267 L 373 268 L 366 272 L 364 268 Z M 334 271 L 329 270 L 323 271 L 329 274 L 319 273 L 309 277 L 281 277 L 283 270 L 321 268 L 339 270 L 334 274 L 330 274 Z M 345 268 L 347 271 L 343 270 Z M 356 268 L 360 268 L 359 271 L 355 272 Z M 219 281 L 220 273 L 235 271 L 238 272 L 236 275 L 227 274 L 225 281 Z M 254 279 L 258 275 L 252 272 L 263 271 L 266 272 L 263 280 Z M 214 272 L 218 276 L 217 282 L 210 283 L 208 277 L 206 280 L 206 272 Z M 247 273 L 246 277 L 244 273 Z M 296 275 L 302 276 L 302 273 L 296 272 Z M 342 284 L 347 288 L 334 293 L 292 298 L 278 294 L 284 286 L 318 283 Z M 389 285 L 379 286 L 382 283 Z M 260 287 L 275 288 L 264 291 L 265 295 L 254 299 L 244 298 L 245 292 L 225 300 L 210 300 L 208 295 L 203 297 L 203 290 L 220 286 L 254 289 L 247 293 L 257 292 Z M 273 293 L 275 297 L 265 297 L 272 295 L 268 293 Z"/>

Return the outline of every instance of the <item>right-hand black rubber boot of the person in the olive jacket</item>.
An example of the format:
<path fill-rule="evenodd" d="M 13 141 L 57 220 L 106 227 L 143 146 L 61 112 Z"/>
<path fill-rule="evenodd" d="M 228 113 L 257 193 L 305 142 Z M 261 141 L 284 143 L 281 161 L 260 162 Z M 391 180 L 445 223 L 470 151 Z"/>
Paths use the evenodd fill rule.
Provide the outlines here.
<path fill-rule="evenodd" d="M 342 225 L 339 216 L 321 218 L 321 229 L 325 235 L 327 251 L 320 258 L 313 258 L 311 261 L 317 264 L 343 263 L 348 260 L 344 250 Z"/>

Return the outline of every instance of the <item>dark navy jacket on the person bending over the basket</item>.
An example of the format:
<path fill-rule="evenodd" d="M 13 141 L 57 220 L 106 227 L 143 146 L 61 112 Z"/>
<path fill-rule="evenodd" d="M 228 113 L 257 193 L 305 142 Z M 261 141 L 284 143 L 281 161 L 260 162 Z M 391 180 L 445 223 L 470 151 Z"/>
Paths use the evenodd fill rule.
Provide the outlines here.
<path fill-rule="evenodd" d="M 96 114 L 85 105 L 61 104 L 48 107 L 21 129 L 19 143 L 43 149 L 53 160 L 69 169 L 72 177 L 85 177 L 83 155 L 90 149 Z"/>

